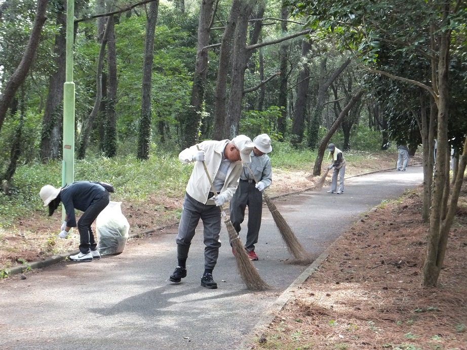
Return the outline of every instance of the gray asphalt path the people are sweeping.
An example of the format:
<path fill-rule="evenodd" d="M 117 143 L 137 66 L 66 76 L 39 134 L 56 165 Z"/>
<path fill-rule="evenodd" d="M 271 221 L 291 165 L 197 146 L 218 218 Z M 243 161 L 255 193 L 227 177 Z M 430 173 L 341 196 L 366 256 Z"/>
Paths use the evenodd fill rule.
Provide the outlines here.
<path fill-rule="evenodd" d="M 274 200 L 303 246 L 321 254 L 359 214 L 422 183 L 422 168 L 350 178 L 342 195 L 303 192 Z M 336 219 L 336 217 L 340 217 Z M 223 224 L 222 224 L 223 225 Z M 242 227 L 245 227 L 243 225 Z M 188 276 L 168 278 L 176 267 L 176 228 L 137 239 L 121 255 L 92 263 L 62 261 L 0 283 L 1 349 L 231 349 L 261 314 L 307 268 L 291 264 L 266 206 L 254 261 L 273 289 L 247 290 L 222 227 L 214 279 L 204 271 L 202 224 L 191 245 Z M 245 241 L 246 228 L 241 232 Z"/>

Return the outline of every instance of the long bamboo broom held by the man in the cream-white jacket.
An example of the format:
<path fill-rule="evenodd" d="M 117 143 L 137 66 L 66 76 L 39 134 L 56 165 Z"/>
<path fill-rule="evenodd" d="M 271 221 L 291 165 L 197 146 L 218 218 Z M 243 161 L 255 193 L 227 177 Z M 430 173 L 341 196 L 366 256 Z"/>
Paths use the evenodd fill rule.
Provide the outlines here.
<path fill-rule="evenodd" d="M 196 147 L 198 148 L 198 150 L 200 150 L 198 145 Z M 208 168 L 206 167 L 206 164 L 204 161 L 202 163 L 204 166 L 204 171 L 206 172 L 206 176 L 208 177 L 209 183 L 211 184 L 212 191 L 214 195 L 217 196 L 216 189 L 214 188 L 214 184 L 212 183 L 211 177 L 209 176 Z M 263 281 L 263 279 L 258 273 L 258 270 L 256 270 L 255 266 L 253 265 L 250 258 L 248 257 L 247 252 L 245 251 L 245 248 L 243 247 L 243 243 L 240 240 L 239 234 L 233 227 L 232 222 L 230 221 L 230 218 L 227 216 L 227 214 L 224 211 L 224 208 L 222 207 L 222 205 L 220 205 L 219 207 L 222 213 L 225 227 L 227 228 L 230 244 L 232 248 L 235 250 L 237 268 L 240 272 L 240 276 L 242 276 L 243 282 L 245 283 L 247 288 L 250 290 L 269 289 L 270 286 L 266 282 Z"/>

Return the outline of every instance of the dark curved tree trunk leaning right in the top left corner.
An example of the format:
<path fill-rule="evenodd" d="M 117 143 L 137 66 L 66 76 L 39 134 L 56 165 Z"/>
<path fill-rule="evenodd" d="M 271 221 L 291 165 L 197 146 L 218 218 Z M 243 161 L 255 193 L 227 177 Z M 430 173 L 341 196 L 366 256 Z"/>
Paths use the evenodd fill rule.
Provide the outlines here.
<path fill-rule="evenodd" d="M 18 87 L 23 83 L 24 79 L 26 79 L 29 68 L 34 60 L 35 52 L 41 38 L 42 27 L 46 21 L 48 2 L 48 0 L 37 0 L 34 24 L 32 26 L 31 35 L 29 36 L 29 41 L 26 49 L 24 50 L 23 57 L 21 58 L 21 62 L 15 72 L 12 74 L 10 79 L 8 79 L 2 95 L 0 95 L 0 130 L 2 130 L 3 121 L 7 115 L 8 107 L 10 106 Z"/>

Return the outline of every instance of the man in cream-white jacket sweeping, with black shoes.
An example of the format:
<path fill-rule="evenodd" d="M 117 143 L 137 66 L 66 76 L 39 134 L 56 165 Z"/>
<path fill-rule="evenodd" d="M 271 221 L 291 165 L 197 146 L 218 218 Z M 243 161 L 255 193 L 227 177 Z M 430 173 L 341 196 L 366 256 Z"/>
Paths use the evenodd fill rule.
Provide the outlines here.
<path fill-rule="evenodd" d="M 178 283 L 186 277 L 186 259 L 191 240 L 200 219 L 204 226 L 205 270 L 201 278 L 201 286 L 215 289 L 212 272 L 219 255 L 219 234 L 221 228 L 221 211 L 219 206 L 229 201 L 239 184 L 242 162 L 250 162 L 253 143 L 245 135 L 230 140 L 204 141 L 198 145 L 184 149 L 178 159 L 188 164 L 196 161 L 186 186 L 183 211 L 178 226 L 177 259 L 178 266 L 170 276 L 171 282 Z M 199 148 L 199 149 L 198 149 Z M 217 196 L 211 188 L 202 162 L 205 162 L 209 176 L 214 184 Z"/>

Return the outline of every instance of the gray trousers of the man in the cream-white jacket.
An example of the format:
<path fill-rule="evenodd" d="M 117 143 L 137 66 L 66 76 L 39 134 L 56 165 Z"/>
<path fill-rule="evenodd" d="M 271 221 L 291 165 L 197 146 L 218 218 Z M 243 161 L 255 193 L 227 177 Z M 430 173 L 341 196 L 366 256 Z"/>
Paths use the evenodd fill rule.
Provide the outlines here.
<path fill-rule="evenodd" d="M 182 217 L 178 225 L 177 258 L 186 259 L 190 249 L 194 231 L 200 222 L 204 227 L 204 268 L 214 269 L 219 256 L 219 235 L 221 226 L 220 208 L 216 205 L 206 205 L 191 198 L 185 193 Z"/>

